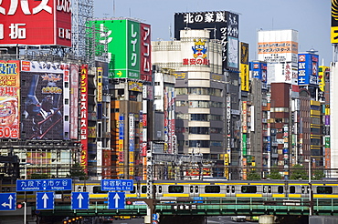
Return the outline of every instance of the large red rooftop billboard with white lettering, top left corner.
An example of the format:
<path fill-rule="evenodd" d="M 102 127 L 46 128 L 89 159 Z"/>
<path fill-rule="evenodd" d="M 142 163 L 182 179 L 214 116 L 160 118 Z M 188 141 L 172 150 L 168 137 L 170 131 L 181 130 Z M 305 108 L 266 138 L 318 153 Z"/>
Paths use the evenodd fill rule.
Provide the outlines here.
<path fill-rule="evenodd" d="M 0 1 L 0 45 L 71 46 L 70 2 Z"/>

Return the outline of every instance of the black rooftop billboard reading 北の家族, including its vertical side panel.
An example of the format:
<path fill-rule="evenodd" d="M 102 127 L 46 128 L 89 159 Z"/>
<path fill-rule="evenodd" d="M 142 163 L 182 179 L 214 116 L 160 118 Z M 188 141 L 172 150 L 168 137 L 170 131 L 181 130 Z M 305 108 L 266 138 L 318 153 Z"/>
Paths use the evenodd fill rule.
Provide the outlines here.
<path fill-rule="evenodd" d="M 227 11 L 193 12 L 174 14 L 174 38 L 180 39 L 180 31 L 185 28 L 208 29 L 210 39 L 222 43 L 223 69 L 239 69 L 239 16 Z"/>

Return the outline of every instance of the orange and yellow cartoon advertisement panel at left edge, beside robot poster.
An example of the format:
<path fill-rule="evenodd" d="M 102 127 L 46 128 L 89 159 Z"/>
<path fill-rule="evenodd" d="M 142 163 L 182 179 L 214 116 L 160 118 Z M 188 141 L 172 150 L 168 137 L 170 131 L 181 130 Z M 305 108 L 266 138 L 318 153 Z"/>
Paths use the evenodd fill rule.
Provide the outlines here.
<path fill-rule="evenodd" d="M 0 61 L 0 138 L 18 138 L 20 63 Z"/>

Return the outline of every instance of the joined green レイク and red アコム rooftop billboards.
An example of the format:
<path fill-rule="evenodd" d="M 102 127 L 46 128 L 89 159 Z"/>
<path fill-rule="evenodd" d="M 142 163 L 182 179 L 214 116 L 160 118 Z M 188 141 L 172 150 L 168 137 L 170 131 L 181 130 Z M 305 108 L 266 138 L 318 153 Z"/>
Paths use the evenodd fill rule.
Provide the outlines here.
<path fill-rule="evenodd" d="M 129 19 L 91 23 L 100 27 L 96 41 L 107 45 L 110 78 L 151 80 L 150 25 Z"/>

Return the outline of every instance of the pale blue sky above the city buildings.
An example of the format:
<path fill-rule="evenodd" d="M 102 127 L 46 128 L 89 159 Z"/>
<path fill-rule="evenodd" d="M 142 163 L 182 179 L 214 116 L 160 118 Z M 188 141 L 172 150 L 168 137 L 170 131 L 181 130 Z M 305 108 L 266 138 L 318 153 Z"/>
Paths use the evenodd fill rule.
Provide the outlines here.
<path fill-rule="evenodd" d="M 250 61 L 258 58 L 259 29 L 297 30 L 300 53 L 318 51 L 320 66 L 333 60 L 330 0 L 94 0 L 95 18 L 137 19 L 151 25 L 153 41 L 174 37 L 175 13 L 206 11 L 239 15 L 239 41 L 248 43 Z"/>

